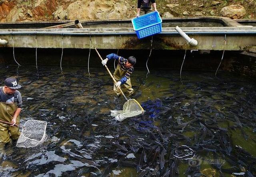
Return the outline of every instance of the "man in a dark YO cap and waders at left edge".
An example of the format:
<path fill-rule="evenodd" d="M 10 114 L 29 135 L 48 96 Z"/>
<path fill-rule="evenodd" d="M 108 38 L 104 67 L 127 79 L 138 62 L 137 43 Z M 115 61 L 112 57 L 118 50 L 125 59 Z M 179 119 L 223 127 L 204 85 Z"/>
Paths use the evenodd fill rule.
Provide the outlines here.
<path fill-rule="evenodd" d="M 8 77 L 4 81 L 4 86 L 0 87 L 0 120 L 11 122 L 14 124 L 20 123 L 20 111 L 22 108 L 22 97 L 18 90 L 21 86 L 13 77 Z M 20 136 L 19 128 L 0 123 L 0 142 L 7 143 L 12 139 L 17 139 Z"/>

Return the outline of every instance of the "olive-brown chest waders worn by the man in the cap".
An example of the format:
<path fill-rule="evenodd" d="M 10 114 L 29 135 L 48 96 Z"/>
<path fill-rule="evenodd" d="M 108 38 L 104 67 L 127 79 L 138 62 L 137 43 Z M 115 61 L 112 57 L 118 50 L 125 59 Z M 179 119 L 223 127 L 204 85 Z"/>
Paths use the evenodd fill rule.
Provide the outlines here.
<path fill-rule="evenodd" d="M 0 120 L 12 122 L 13 114 L 17 109 L 16 104 L 0 102 Z M 20 117 L 16 119 L 16 124 L 20 124 Z M 18 127 L 0 123 L 0 143 L 7 143 L 12 139 L 18 139 L 20 130 Z"/>

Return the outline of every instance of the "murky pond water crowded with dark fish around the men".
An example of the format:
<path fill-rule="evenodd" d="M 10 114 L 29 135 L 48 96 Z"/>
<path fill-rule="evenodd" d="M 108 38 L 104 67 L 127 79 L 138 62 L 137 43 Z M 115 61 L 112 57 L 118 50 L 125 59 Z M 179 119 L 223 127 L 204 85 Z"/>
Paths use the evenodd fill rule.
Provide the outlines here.
<path fill-rule="evenodd" d="M 111 69 L 113 70 L 113 69 Z M 233 73 L 135 71 L 132 83 L 146 110 L 116 122 L 122 109 L 103 67 L 16 66 L 24 106 L 21 124 L 48 122 L 36 148 L 0 145 L 0 176 L 256 175 L 256 83 Z M 39 79 L 38 79 L 39 78 Z M 234 176 L 234 175 L 233 175 Z"/>

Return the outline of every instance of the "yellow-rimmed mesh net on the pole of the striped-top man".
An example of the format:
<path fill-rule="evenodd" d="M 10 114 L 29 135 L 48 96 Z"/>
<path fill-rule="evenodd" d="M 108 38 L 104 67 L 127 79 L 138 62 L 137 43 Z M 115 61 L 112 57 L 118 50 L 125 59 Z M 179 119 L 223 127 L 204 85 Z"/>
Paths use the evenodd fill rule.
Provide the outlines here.
<path fill-rule="evenodd" d="M 116 120 L 123 121 L 128 117 L 142 114 L 144 110 L 136 100 L 130 99 L 124 103 L 123 110 L 111 110 L 110 112 L 110 115 L 114 116 Z"/>

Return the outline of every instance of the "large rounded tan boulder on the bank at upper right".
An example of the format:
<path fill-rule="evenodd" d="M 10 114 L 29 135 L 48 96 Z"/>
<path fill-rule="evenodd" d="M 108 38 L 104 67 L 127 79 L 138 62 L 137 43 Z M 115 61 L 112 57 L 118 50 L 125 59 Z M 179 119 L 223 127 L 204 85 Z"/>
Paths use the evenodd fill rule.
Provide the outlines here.
<path fill-rule="evenodd" d="M 226 6 L 222 8 L 220 14 L 224 17 L 229 17 L 232 19 L 240 19 L 246 15 L 246 10 L 243 6 L 235 4 L 231 6 Z"/>

